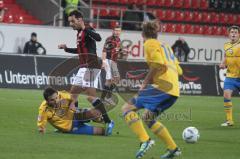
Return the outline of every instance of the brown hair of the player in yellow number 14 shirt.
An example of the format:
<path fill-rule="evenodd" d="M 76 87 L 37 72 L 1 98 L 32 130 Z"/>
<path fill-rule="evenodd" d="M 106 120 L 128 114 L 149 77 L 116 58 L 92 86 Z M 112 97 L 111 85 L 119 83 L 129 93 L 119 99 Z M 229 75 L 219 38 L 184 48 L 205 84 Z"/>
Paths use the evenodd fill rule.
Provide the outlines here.
<path fill-rule="evenodd" d="M 148 21 L 142 25 L 142 32 L 145 38 L 157 39 L 159 30 L 160 26 L 158 21 Z"/>

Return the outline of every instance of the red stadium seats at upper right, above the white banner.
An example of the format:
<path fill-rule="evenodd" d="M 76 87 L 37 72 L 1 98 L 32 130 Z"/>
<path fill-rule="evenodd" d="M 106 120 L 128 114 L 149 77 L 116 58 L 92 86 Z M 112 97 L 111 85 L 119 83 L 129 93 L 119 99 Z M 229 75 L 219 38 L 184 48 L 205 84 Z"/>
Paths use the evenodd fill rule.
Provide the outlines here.
<path fill-rule="evenodd" d="M 120 10 L 124 14 L 127 6 L 134 3 L 139 7 L 146 5 L 147 11 L 162 21 L 164 32 L 225 36 L 228 26 L 240 25 L 239 13 L 214 10 L 210 8 L 209 0 L 93 0 L 96 7 L 104 5 L 105 9 L 100 10 L 100 18 L 114 17 L 113 20 L 117 22 L 120 19 Z M 97 12 L 94 11 L 94 16 L 96 15 Z M 109 27 L 115 21 L 109 23 Z"/>

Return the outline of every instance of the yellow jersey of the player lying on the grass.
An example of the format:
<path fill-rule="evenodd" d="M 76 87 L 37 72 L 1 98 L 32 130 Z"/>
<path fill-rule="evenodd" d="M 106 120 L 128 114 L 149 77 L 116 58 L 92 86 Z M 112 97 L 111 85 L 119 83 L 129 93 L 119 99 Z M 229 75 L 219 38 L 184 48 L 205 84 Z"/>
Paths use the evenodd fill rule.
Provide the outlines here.
<path fill-rule="evenodd" d="M 59 91 L 60 105 L 53 108 L 43 101 L 39 107 L 37 126 L 45 128 L 47 122 L 53 127 L 68 132 L 72 128 L 72 120 L 75 110 L 71 109 L 70 103 L 72 102 L 71 95 L 65 91 Z"/>

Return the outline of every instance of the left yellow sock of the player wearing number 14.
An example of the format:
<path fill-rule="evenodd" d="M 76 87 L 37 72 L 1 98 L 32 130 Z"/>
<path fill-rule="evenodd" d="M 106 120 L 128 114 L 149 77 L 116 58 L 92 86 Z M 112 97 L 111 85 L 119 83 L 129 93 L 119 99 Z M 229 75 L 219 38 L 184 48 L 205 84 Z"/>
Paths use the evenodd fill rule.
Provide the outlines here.
<path fill-rule="evenodd" d="M 149 136 L 143 126 L 142 120 L 139 118 L 136 112 L 128 112 L 125 115 L 125 121 L 130 129 L 138 136 L 141 142 L 146 142 L 149 140 Z"/>

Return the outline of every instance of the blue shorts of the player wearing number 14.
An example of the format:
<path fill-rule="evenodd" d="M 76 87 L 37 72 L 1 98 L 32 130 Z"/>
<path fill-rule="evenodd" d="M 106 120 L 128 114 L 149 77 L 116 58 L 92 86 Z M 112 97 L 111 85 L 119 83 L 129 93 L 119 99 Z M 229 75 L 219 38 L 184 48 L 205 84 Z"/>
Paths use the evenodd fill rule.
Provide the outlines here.
<path fill-rule="evenodd" d="M 177 98 L 149 85 L 140 91 L 137 97 L 132 98 L 131 102 L 138 109 L 145 108 L 152 112 L 161 113 L 171 107 Z"/>

